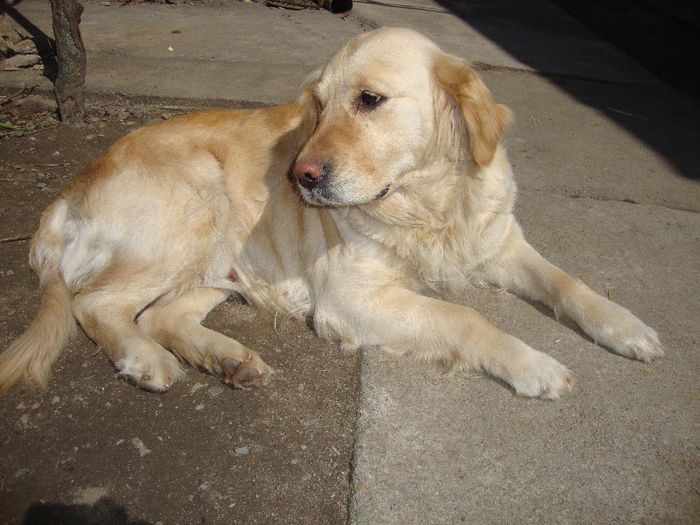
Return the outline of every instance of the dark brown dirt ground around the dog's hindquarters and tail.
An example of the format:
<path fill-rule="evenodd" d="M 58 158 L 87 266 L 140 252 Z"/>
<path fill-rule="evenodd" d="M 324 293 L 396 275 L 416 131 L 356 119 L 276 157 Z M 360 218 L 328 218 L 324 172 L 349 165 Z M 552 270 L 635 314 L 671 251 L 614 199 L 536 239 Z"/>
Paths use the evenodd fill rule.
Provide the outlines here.
<path fill-rule="evenodd" d="M 29 323 L 37 282 L 28 240 L 46 205 L 119 136 L 193 107 L 91 99 L 87 124 L 55 121 L 48 96 L 0 92 L 0 348 Z M 166 394 L 115 376 L 84 334 L 47 390 L 0 394 L 2 523 L 344 523 L 359 357 L 301 322 L 230 301 L 206 324 L 259 351 L 278 373 L 233 390 L 190 369 Z"/>

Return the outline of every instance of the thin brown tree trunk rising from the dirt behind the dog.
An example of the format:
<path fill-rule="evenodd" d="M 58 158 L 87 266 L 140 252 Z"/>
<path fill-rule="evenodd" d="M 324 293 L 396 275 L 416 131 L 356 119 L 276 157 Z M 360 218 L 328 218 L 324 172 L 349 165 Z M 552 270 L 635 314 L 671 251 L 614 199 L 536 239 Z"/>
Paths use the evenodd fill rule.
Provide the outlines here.
<path fill-rule="evenodd" d="M 58 115 L 66 122 L 82 122 L 87 63 L 79 27 L 83 6 L 77 0 L 51 0 L 51 13 L 58 61 L 54 84 Z"/>

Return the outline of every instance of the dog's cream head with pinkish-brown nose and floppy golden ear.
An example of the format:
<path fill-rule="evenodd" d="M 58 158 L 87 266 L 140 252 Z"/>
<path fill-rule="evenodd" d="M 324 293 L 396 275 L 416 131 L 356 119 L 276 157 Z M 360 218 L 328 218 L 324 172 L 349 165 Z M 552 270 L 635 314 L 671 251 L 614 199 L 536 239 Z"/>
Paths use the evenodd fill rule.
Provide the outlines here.
<path fill-rule="evenodd" d="M 351 40 L 302 100 L 317 122 L 293 175 L 307 202 L 330 206 L 381 199 L 441 156 L 488 165 L 510 115 L 463 61 L 396 28 Z"/>

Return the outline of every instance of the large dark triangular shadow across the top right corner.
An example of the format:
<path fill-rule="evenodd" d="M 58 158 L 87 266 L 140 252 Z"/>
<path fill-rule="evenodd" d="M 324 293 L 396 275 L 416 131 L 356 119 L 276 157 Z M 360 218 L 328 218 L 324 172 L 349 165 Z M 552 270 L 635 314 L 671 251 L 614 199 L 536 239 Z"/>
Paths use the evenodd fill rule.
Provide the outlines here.
<path fill-rule="evenodd" d="M 700 142 L 697 7 L 657 0 L 437 1 L 518 61 L 636 136 L 682 176 L 700 179 L 695 159 Z M 614 57 L 608 64 L 605 50 L 590 44 L 591 32 L 668 87 L 661 82 L 654 85 L 653 79 L 644 82 L 633 73 L 625 78 L 620 68 L 614 68 Z M 580 75 L 558 72 L 562 65 L 572 64 L 582 71 Z M 598 75 L 596 64 L 605 64 L 608 74 Z"/>

